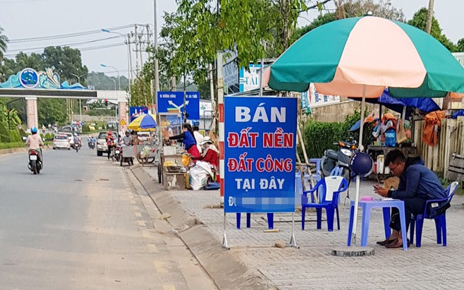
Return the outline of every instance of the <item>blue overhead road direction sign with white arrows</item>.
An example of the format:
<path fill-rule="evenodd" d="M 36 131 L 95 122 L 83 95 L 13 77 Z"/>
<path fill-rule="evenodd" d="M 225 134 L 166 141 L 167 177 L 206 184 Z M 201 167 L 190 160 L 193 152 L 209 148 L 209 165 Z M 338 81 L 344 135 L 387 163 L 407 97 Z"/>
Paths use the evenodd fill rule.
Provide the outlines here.
<path fill-rule="evenodd" d="M 169 113 L 169 109 L 178 109 L 183 113 L 183 92 L 158 92 L 158 113 Z M 186 92 L 185 110 L 189 120 L 200 119 L 200 92 Z"/>

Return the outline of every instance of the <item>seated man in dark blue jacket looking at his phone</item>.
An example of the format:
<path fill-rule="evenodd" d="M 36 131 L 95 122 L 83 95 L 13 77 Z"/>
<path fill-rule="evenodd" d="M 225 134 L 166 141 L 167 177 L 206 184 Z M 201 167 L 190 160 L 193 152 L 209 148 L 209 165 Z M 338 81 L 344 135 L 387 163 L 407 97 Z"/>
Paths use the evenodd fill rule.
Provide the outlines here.
<path fill-rule="evenodd" d="M 400 178 L 398 190 L 389 190 L 376 185 L 374 191 L 381 196 L 404 201 L 406 231 L 408 231 L 411 214 L 422 214 L 426 200 L 446 198 L 444 189 L 434 171 L 425 167 L 424 160 L 420 157 L 406 159 L 403 152 L 396 149 L 386 155 L 385 164 L 394 176 Z M 401 223 L 396 208 L 391 210 L 390 227 L 391 236 L 377 244 L 386 246 L 386 248 L 402 248 Z"/>

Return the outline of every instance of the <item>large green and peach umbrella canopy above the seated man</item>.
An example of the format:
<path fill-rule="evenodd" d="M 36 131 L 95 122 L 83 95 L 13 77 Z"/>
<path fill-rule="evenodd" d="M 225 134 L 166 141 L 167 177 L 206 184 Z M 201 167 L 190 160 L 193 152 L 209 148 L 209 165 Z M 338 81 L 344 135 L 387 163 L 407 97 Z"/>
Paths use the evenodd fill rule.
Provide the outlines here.
<path fill-rule="evenodd" d="M 434 37 L 375 16 L 336 20 L 303 35 L 271 65 L 269 87 L 344 97 L 464 93 L 464 68 Z"/>

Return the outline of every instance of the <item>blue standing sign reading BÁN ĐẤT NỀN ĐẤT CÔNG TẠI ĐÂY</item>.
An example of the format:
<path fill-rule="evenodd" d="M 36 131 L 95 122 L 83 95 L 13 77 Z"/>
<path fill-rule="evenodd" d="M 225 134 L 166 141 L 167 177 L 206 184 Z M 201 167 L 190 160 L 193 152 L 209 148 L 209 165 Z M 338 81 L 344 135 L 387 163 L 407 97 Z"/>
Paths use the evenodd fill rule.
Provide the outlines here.
<path fill-rule="evenodd" d="M 294 212 L 297 99 L 224 98 L 224 212 Z"/>

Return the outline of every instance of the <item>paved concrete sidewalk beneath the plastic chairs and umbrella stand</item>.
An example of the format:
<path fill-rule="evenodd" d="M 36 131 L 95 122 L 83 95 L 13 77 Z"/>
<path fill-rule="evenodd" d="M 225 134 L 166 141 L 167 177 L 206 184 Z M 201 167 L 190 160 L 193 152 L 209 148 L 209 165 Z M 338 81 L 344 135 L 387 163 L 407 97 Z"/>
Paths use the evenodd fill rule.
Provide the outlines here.
<path fill-rule="evenodd" d="M 152 179 L 157 179 L 157 171 L 154 168 L 140 167 L 134 170 L 136 175 L 137 170 L 149 174 Z M 362 181 L 360 195 L 374 196 L 372 184 L 374 183 L 370 181 Z M 462 196 L 456 196 L 453 199 L 453 206 L 447 211 L 448 246 L 436 244 L 434 222 L 430 220 L 425 221 L 421 248 L 411 245 L 410 249 L 405 252 L 402 249 L 386 249 L 377 246 L 375 241 L 384 239 L 382 212 L 378 209 L 372 211 L 368 238 L 368 246 L 374 248 L 375 255 L 341 258 L 331 255 L 331 249 L 346 246 L 349 213 L 348 202 L 343 205 L 345 195 L 342 195 L 342 203 L 339 205 L 340 231 L 326 231 L 324 221 L 322 229 L 317 230 L 315 212 L 312 211 L 307 212 L 305 231 L 302 231 L 301 214 L 297 214 L 295 215 L 295 237 L 300 248 L 275 248 L 276 241 L 289 241 L 291 237 L 290 214 L 274 215 L 274 229 L 280 230 L 276 233 L 264 233 L 267 229 L 266 215 L 253 214 L 252 227 L 246 229 L 243 214 L 242 229 L 238 230 L 236 229 L 236 215 L 230 214 L 226 216 L 226 234 L 231 250 L 224 250 L 215 247 L 220 246 L 223 238 L 224 212 L 216 207 L 220 201 L 219 191 L 163 191 L 160 187 L 157 191 L 162 191 L 159 193 L 162 196 L 173 198 L 183 212 L 195 217 L 204 225 L 202 228 L 207 230 L 203 234 L 205 241 L 198 241 L 197 238 L 202 238 L 198 235 L 195 240 L 189 241 L 188 238 L 184 238 L 184 241 L 191 249 L 194 249 L 194 254 L 195 249 L 204 256 L 208 255 L 209 250 L 212 251 L 209 253 L 212 257 L 205 262 L 202 262 L 204 259 L 197 258 L 221 289 L 242 289 L 239 284 L 234 284 L 239 283 L 240 278 L 249 279 L 250 284 L 247 287 L 249 289 L 464 288 L 464 231 L 460 226 L 464 222 Z M 354 192 L 353 183 L 350 187 L 350 194 L 354 196 Z M 154 201 L 157 202 L 157 200 Z M 160 210 L 163 209 L 160 207 Z M 177 212 L 169 213 L 177 215 Z M 359 221 L 358 218 L 358 228 L 360 228 Z M 176 224 L 175 221 L 173 223 Z M 334 227 L 336 228 L 336 224 Z M 185 229 L 188 229 L 188 226 Z M 357 236 L 359 243 L 360 230 Z M 195 243 L 195 245 L 189 245 L 189 243 Z M 212 244 L 214 246 L 211 246 Z M 219 256 L 223 254 L 226 256 Z M 226 264 L 229 258 L 236 259 L 240 265 L 241 272 L 237 273 L 239 277 L 232 277 L 234 272 L 221 275 L 220 272 L 214 271 L 221 263 Z M 217 279 L 224 279 L 224 281 L 218 282 Z"/>

